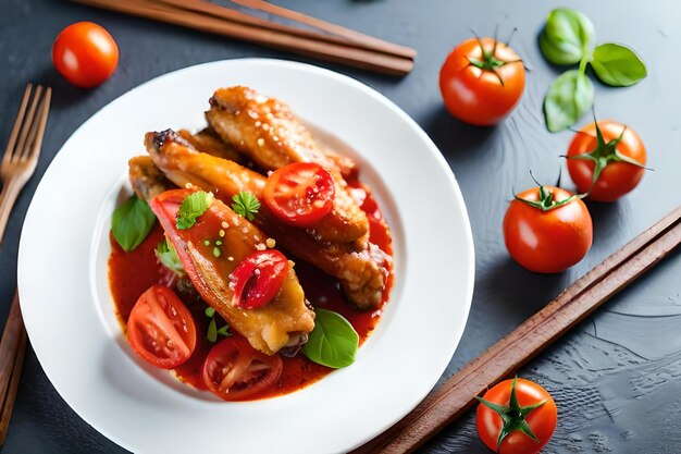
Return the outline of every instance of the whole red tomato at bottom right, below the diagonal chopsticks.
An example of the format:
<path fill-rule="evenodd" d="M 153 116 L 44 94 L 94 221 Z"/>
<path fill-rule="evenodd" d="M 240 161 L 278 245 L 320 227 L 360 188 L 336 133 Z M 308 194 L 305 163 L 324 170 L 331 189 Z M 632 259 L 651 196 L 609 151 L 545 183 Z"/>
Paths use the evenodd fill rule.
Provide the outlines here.
<path fill-rule="evenodd" d="M 513 380 L 505 380 L 497 383 L 485 393 L 483 400 L 497 405 L 510 406 L 512 384 Z M 504 427 L 504 420 L 496 412 L 482 403 L 478 406 L 478 413 L 475 415 L 478 434 L 482 442 L 495 453 L 538 453 L 542 447 L 546 445 L 548 440 L 550 440 L 556 429 L 556 421 L 558 420 L 556 403 L 544 388 L 530 380 L 516 379 L 515 394 L 520 407 L 527 407 L 544 401 L 544 404 L 531 409 L 522 417 L 538 441 L 532 440 L 532 438 L 519 430 L 513 430 L 504 438 L 497 451 L 499 432 Z M 513 416 L 518 415 L 516 414 Z"/>

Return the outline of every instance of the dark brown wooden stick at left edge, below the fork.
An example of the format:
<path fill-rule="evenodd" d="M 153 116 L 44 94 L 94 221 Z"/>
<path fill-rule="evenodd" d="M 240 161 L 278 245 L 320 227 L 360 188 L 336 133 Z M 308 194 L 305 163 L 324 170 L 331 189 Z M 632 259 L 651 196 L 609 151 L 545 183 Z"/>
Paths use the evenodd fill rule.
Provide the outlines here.
<path fill-rule="evenodd" d="M 18 377 L 16 376 L 21 376 L 25 348 L 26 330 L 24 329 L 24 321 L 22 320 L 22 312 L 18 306 L 18 293 L 15 292 L 12 306 L 10 307 L 10 315 L 2 332 L 2 340 L 0 340 L 0 403 L 2 403 L 0 445 L 4 443 L 7 428 L 12 416 L 18 386 Z M 18 369 L 15 371 L 14 369 L 17 365 Z"/>

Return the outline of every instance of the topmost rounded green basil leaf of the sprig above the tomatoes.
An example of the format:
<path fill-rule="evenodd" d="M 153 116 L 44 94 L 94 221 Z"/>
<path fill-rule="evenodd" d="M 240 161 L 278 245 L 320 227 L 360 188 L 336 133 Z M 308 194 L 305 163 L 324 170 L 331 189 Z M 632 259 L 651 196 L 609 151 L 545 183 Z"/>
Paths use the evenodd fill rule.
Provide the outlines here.
<path fill-rule="evenodd" d="M 558 8 L 546 17 L 546 25 L 540 36 L 540 48 L 552 63 L 579 63 L 591 47 L 594 36 L 594 24 L 585 14 Z"/>

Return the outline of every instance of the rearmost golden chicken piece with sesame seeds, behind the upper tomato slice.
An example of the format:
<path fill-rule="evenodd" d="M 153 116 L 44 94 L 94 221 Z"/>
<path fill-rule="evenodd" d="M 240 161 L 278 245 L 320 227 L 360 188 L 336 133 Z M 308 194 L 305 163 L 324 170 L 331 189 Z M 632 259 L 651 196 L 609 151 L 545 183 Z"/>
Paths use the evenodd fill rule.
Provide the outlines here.
<path fill-rule="evenodd" d="M 336 196 L 332 211 L 317 228 L 322 238 L 351 242 L 369 232 L 369 220 L 343 179 L 340 158 L 324 154 L 288 106 L 240 86 L 216 90 L 210 105 L 206 118 L 212 130 L 261 169 L 317 162 L 329 170 Z"/>

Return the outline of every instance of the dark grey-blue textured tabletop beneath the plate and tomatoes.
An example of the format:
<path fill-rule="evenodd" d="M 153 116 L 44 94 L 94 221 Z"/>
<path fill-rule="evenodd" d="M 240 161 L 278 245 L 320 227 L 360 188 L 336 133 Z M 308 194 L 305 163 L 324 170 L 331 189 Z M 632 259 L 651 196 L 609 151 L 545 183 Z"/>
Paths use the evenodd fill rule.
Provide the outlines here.
<path fill-rule="evenodd" d="M 557 275 L 536 275 L 516 266 L 504 248 L 500 223 L 513 188 L 532 184 L 530 169 L 541 181 L 557 179 L 558 156 L 566 151 L 571 138 L 570 133 L 552 135 L 543 126 L 543 94 L 560 70 L 542 59 L 536 45 L 545 14 L 564 2 L 282 0 L 281 3 L 419 51 L 416 70 L 403 79 L 314 63 L 359 78 L 405 109 L 438 145 L 461 186 L 475 242 L 475 293 L 466 333 L 443 380 L 681 203 L 679 2 L 628 0 L 617 2 L 616 9 L 611 2 L 572 2 L 593 20 L 599 42 L 631 45 L 648 65 L 648 77 L 632 88 L 612 89 L 596 83 L 596 109 L 600 118 L 624 122 L 640 133 L 648 149 L 648 164 L 655 171 L 648 172 L 624 199 L 610 205 L 590 204 L 594 247 L 581 263 Z M 121 48 L 120 66 L 113 78 L 89 91 L 69 86 L 54 73 L 50 62 L 50 47 L 59 30 L 83 20 L 107 27 Z M 471 35 L 470 29 L 491 35 L 497 25 L 502 36 L 518 27 L 511 44 L 532 69 L 527 90 L 518 109 L 497 127 L 467 126 L 451 119 L 442 106 L 437 89 L 439 65 L 453 46 Z M 143 82 L 196 63 L 247 56 L 310 61 L 66 1 L 3 2 L 0 144 L 7 143 L 26 82 L 50 84 L 54 88 L 54 101 L 37 175 L 21 195 L 0 247 L 0 321 L 7 317 L 14 292 L 23 218 L 39 176 L 66 138 L 102 106 Z M 586 121 L 583 119 L 580 124 Z M 87 170 L 74 169 L 74 174 L 83 171 Z M 564 181 L 569 187 L 569 179 Z M 424 197 L 432 196 L 428 188 L 419 191 Z M 54 260 L 55 266 L 61 260 L 60 257 L 40 259 Z M 681 254 L 676 253 L 521 370 L 521 376 L 548 389 L 558 403 L 559 425 L 544 452 L 681 452 L 680 271 Z M 2 452 L 124 451 L 76 416 L 29 351 Z M 471 413 L 429 442 L 422 452 L 484 453 L 486 450 L 478 440 Z"/>

